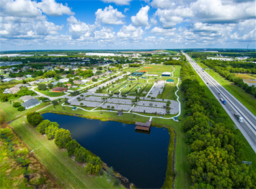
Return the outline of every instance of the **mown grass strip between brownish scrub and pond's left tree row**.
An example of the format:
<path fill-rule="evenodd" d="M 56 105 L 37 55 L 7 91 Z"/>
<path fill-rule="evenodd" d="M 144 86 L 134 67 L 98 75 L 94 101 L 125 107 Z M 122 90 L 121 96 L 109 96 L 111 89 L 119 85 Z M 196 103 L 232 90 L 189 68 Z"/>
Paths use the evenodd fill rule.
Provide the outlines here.
<path fill-rule="evenodd" d="M 115 188 L 106 181 L 106 175 L 89 176 L 82 165 L 68 157 L 66 150 L 59 150 L 54 141 L 48 141 L 38 133 L 26 118 L 15 120 L 11 126 L 63 188 Z"/>

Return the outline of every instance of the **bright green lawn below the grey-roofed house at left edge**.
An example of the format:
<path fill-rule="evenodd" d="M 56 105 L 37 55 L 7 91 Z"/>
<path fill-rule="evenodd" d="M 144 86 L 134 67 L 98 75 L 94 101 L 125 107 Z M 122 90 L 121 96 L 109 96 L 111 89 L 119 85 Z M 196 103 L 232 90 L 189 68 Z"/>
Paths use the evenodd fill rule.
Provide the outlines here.
<path fill-rule="evenodd" d="M 44 107 L 45 105 L 48 105 L 48 103 L 41 103 L 40 105 L 37 105 L 35 107 L 32 107 L 30 109 L 25 109 L 24 111 L 18 111 L 17 107 L 12 107 L 12 104 L 10 102 L 0 103 L 0 112 L 3 116 L 3 119 L 6 122 L 9 122 L 11 120 L 15 120 L 25 114 L 29 111 L 35 111 L 36 109 L 40 109 Z"/>

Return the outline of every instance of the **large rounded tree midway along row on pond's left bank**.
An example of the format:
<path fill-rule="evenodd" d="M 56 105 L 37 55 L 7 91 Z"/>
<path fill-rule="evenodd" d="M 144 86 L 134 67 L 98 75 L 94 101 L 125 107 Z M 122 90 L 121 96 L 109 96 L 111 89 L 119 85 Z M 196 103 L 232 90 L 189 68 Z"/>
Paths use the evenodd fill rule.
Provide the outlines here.
<path fill-rule="evenodd" d="M 59 149 L 66 148 L 66 144 L 71 141 L 71 134 L 70 131 L 64 129 L 64 128 L 59 128 L 55 132 L 55 144 Z"/>

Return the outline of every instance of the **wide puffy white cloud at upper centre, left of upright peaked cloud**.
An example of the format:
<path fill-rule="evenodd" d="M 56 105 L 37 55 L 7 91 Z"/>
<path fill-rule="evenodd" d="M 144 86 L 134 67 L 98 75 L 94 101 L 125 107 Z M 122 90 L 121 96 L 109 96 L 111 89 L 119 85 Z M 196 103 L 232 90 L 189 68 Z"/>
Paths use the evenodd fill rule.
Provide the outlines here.
<path fill-rule="evenodd" d="M 96 22 L 102 22 L 102 24 L 125 24 L 122 18 L 126 17 L 122 12 L 113 9 L 111 5 L 105 7 L 104 10 L 98 9 L 96 14 Z"/>

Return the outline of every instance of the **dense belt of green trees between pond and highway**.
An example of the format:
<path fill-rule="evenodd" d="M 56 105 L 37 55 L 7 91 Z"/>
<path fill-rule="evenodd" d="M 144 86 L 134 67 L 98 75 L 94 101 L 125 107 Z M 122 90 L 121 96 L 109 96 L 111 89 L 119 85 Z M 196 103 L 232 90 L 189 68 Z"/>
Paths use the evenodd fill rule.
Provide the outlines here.
<path fill-rule="evenodd" d="M 186 100 L 186 121 L 182 128 L 190 145 L 188 169 L 195 184 L 190 188 L 256 188 L 256 176 L 242 164 L 242 141 L 225 123 L 216 105 L 195 79 L 188 66 L 182 67 L 182 90 Z"/>

